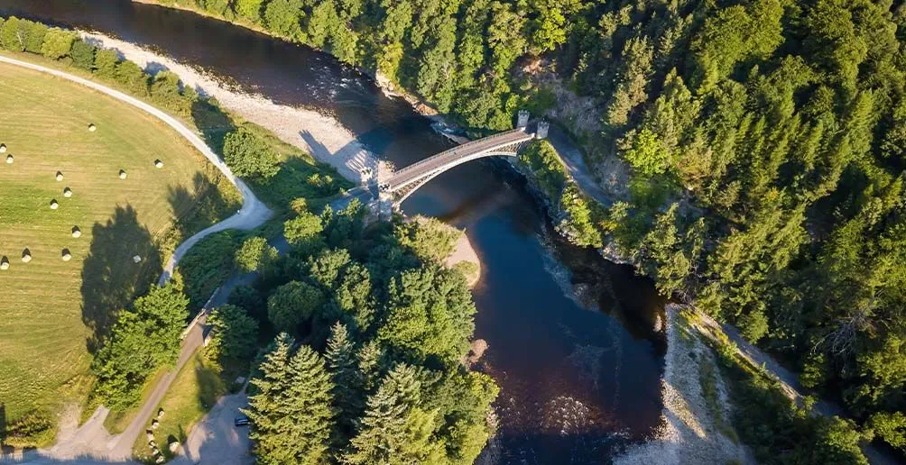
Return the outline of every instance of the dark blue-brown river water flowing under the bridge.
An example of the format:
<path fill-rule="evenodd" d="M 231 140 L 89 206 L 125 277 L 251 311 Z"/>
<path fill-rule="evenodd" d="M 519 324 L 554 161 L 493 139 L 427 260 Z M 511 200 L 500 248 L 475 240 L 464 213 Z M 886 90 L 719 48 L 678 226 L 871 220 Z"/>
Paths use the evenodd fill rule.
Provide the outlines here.
<path fill-rule="evenodd" d="M 0 12 L 144 44 L 239 89 L 331 114 L 396 166 L 450 144 L 330 55 L 197 14 L 114 0 L 0 0 Z M 650 281 L 559 239 L 499 162 L 458 166 L 402 206 L 465 228 L 481 258 L 476 337 L 490 347 L 480 369 L 501 386 L 497 462 L 606 463 L 651 434 L 665 343 Z"/>

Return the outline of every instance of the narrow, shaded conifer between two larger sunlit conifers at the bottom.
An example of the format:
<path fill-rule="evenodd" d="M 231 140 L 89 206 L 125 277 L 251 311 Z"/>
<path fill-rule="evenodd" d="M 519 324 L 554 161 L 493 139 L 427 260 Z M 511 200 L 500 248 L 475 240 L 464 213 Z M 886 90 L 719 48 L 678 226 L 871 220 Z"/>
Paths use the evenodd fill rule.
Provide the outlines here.
<path fill-rule="evenodd" d="M 327 340 L 327 365 L 333 377 L 333 404 L 339 409 L 342 428 L 341 441 L 352 432 L 352 422 L 364 407 L 362 395 L 356 390 L 359 384 L 359 371 L 356 366 L 355 346 L 349 337 L 349 331 L 339 321 L 331 327 L 331 337 Z"/>

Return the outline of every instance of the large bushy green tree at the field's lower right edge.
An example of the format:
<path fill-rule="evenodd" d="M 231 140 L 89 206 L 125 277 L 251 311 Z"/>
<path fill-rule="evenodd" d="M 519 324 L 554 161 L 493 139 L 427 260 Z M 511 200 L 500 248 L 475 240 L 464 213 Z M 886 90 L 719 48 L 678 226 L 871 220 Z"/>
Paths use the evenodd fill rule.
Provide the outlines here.
<path fill-rule="evenodd" d="M 114 410 L 139 401 L 141 388 L 160 366 L 179 356 L 188 299 L 173 286 L 154 287 L 119 318 L 92 363 L 97 376 L 92 396 Z"/>

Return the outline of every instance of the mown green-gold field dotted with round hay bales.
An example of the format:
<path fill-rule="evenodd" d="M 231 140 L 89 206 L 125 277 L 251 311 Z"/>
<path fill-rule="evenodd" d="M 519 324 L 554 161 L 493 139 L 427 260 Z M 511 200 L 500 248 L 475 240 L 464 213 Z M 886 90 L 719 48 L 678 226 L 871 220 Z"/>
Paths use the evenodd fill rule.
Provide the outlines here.
<path fill-rule="evenodd" d="M 180 238 L 234 212 L 240 199 L 158 119 L 7 64 L 0 64 L 0 143 L 8 148 L 0 155 L 0 256 L 10 262 L 0 270 L 0 422 L 14 422 L 82 401 L 90 349 L 114 312 L 156 280 Z M 9 154 L 13 164 L 5 163 Z M 71 261 L 62 260 L 63 249 Z"/>

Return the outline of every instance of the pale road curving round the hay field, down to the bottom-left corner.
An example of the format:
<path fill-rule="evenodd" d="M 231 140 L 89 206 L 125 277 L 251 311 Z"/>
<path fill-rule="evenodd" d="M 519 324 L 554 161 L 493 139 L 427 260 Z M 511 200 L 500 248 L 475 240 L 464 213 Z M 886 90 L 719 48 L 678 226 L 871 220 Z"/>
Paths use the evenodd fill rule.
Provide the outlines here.
<path fill-rule="evenodd" d="M 195 131 L 188 128 L 178 119 L 169 116 L 167 113 L 149 105 L 142 100 L 136 99 L 130 95 L 120 92 L 119 90 L 113 90 L 95 81 L 90 81 L 79 76 L 74 76 L 64 71 L 54 70 L 52 68 L 47 68 L 31 62 L 23 62 L 21 60 L 16 60 L 14 58 L 3 55 L 0 55 L 0 62 L 13 64 L 15 66 L 21 66 L 23 68 L 28 68 L 34 71 L 41 71 L 65 79 L 67 81 L 77 82 L 79 84 L 82 84 L 83 86 L 109 95 L 116 100 L 124 101 L 132 105 L 133 107 L 149 113 L 155 118 L 160 119 L 161 121 L 166 123 L 170 128 L 175 129 L 180 136 L 186 138 L 193 147 L 198 149 L 198 151 L 201 152 L 208 161 L 214 164 L 214 166 L 217 166 L 217 169 L 219 169 L 220 172 L 223 173 L 224 176 L 226 176 L 226 178 L 231 183 L 233 183 L 233 185 L 236 185 L 237 189 L 239 189 L 239 192 L 242 194 L 242 208 L 240 208 L 239 211 L 236 212 L 236 214 L 230 216 L 226 220 L 207 227 L 205 230 L 192 235 L 185 242 L 179 244 L 176 251 L 173 252 L 173 256 L 170 257 L 167 265 L 164 267 L 164 271 L 160 276 L 159 284 L 162 285 L 169 280 L 169 277 L 172 275 L 173 270 L 176 268 L 176 264 L 179 262 L 179 260 L 182 259 L 186 252 L 193 245 L 195 245 L 195 243 L 197 243 L 207 235 L 226 229 L 255 229 L 262 223 L 265 223 L 265 221 L 273 214 L 273 212 L 255 196 L 255 193 L 252 192 L 252 189 L 248 185 L 246 185 L 246 183 L 242 179 L 236 177 L 229 169 L 229 166 L 226 166 L 226 163 L 224 163 L 223 160 L 220 159 L 220 157 L 217 157 L 217 154 L 215 154 L 210 147 L 207 147 L 207 144 L 205 144 L 204 140 L 198 137 L 198 134 L 196 134 Z M 140 412 L 136 415 L 135 419 L 132 420 L 130 425 L 121 434 L 111 436 L 106 431 L 106 429 L 104 429 L 103 421 L 109 411 L 101 406 L 98 408 L 98 411 L 92 415 L 92 418 L 88 422 L 85 422 L 82 427 L 67 435 L 68 437 L 66 437 L 65 439 L 60 438 L 60 441 L 58 441 L 58 443 L 50 449 L 32 451 L 25 457 L 22 457 L 16 461 L 19 461 L 20 463 L 46 463 L 53 462 L 55 460 L 72 459 L 76 459 L 84 463 L 94 461 L 88 459 L 88 457 L 91 457 L 95 460 L 130 460 L 132 454 L 132 444 L 139 437 L 139 434 L 144 429 L 145 425 L 150 421 L 151 414 L 160 403 L 163 395 L 167 393 L 169 384 L 172 383 L 173 378 L 176 377 L 179 368 L 181 368 L 182 365 L 184 365 L 186 361 L 188 361 L 188 358 L 198 349 L 198 347 L 203 344 L 203 340 L 204 337 L 199 325 L 192 325 L 188 328 L 188 332 L 183 338 L 182 351 L 179 355 L 177 367 L 174 370 L 170 370 L 170 373 L 166 375 L 162 380 L 160 380 L 158 385 L 155 386 L 154 390 L 149 395 L 148 400 L 142 405 Z M 81 460 L 77 458 L 81 458 Z M 0 460 L 3 460 L 3 458 L 0 458 Z"/>

